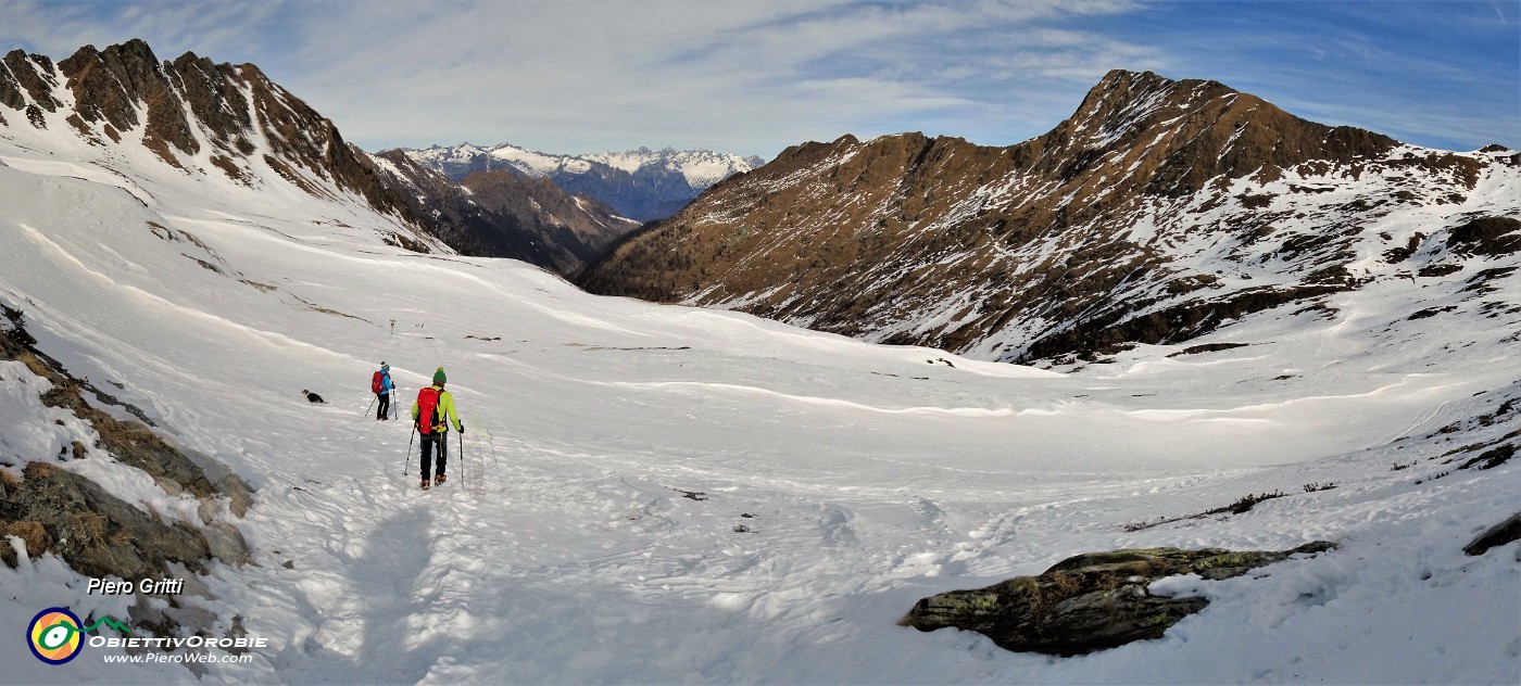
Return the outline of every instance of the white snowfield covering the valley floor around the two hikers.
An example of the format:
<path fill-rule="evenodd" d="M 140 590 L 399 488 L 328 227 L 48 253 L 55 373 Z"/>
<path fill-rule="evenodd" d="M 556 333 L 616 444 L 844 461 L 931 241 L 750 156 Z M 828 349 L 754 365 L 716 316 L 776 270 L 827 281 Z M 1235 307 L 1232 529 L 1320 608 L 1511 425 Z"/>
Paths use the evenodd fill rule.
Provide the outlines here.
<path fill-rule="evenodd" d="M 1521 424 L 1471 421 L 1521 397 L 1521 329 L 1462 277 L 1189 341 L 1234 350 L 1057 374 L 590 297 L 386 246 L 394 221 L 272 175 L 240 187 L 27 135 L 0 131 L 0 301 L 73 376 L 257 488 L 246 517 L 219 514 L 254 564 L 216 564 L 183 602 L 268 648 L 198 677 L 110 648 L 49 666 L 9 639 L 6 683 L 1521 683 L 1521 546 L 1462 552 L 1521 510 L 1518 464 L 1445 455 Z M 1488 300 L 1515 306 L 1518 277 Z M 1416 303 L 1454 309 L 1410 319 Z M 367 415 L 382 360 L 402 421 Z M 405 412 L 440 365 L 465 434 L 423 493 Z M 43 386 L 0 364 L 15 476 L 90 443 Z M 195 520 L 103 452 L 58 464 Z M 1080 552 L 1313 540 L 1342 548 L 1156 584 L 1212 602 L 1083 657 L 894 624 Z M 21 557 L 0 566 L 11 636 L 46 607 L 134 601 Z"/>

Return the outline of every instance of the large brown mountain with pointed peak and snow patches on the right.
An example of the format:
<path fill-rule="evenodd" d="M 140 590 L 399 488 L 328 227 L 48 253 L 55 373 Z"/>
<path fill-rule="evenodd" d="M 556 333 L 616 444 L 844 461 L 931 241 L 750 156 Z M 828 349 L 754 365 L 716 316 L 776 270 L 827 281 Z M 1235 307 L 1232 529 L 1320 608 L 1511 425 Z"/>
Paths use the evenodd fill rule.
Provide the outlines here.
<path fill-rule="evenodd" d="M 1110 71 L 1068 120 L 1008 148 L 920 134 L 791 148 L 581 283 L 987 359 L 1092 359 L 1440 271 L 1451 230 L 1521 214 L 1483 183 L 1515 166 L 1504 149 L 1427 151 L 1217 82 Z M 1419 233 L 1380 228 L 1410 213 Z"/>

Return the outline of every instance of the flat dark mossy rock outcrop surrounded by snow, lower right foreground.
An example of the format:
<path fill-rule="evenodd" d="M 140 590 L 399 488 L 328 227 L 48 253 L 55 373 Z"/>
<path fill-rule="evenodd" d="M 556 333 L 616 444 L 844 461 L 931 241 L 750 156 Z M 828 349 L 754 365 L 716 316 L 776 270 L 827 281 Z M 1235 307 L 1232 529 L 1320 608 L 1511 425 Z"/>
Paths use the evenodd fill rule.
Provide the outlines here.
<path fill-rule="evenodd" d="M 978 631 L 1011 651 L 1075 656 L 1162 637 L 1168 627 L 1209 604 L 1205 598 L 1151 595 L 1147 587 L 1153 581 L 1185 573 L 1226 580 L 1294 554 L 1334 548 L 1314 541 L 1282 552 L 1147 548 L 1077 555 L 1039 576 L 925 598 L 900 624 L 920 631 Z"/>

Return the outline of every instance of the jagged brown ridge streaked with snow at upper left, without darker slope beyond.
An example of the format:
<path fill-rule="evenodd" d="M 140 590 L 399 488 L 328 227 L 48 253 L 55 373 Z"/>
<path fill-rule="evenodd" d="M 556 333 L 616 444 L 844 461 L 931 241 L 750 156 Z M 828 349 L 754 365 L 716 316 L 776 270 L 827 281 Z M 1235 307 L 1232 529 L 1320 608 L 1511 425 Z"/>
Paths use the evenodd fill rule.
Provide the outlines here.
<path fill-rule="evenodd" d="M 252 64 L 213 64 L 195 53 L 160 62 L 146 43 L 132 40 L 105 50 L 85 46 L 56 65 L 14 50 L 0 67 L 0 103 L 33 126 L 46 126 L 43 110 L 65 106 L 62 90 L 73 99 L 67 123 L 94 145 L 119 145 L 135 132 L 178 169 L 207 161 L 249 183 L 251 164 L 262 161 L 312 195 L 332 196 L 316 183 L 327 181 L 380 211 L 399 211 L 364 152 Z"/>

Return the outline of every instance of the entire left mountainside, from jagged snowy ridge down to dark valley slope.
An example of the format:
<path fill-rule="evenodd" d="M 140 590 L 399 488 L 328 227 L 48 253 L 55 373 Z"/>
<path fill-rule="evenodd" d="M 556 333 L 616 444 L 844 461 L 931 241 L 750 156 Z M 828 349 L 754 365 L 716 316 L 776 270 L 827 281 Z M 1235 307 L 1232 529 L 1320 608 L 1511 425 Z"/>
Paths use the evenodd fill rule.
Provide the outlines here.
<path fill-rule="evenodd" d="M 141 145 L 190 176 L 248 187 L 289 183 L 316 198 L 370 205 L 400 227 L 376 231 L 415 251 L 443 243 L 573 275 L 637 227 L 552 187 L 496 192 L 500 202 L 476 205 L 468 190 L 437 172 L 347 143 L 332 120 L 252 64 L 195 53 L 160 61 L 140 40 L 105 50 L 85 46 L 58 64 L 21 50 L 0 59 L 0 128 L 47 131 L 49 122 L 50 134 L 93 146 Z"/>

